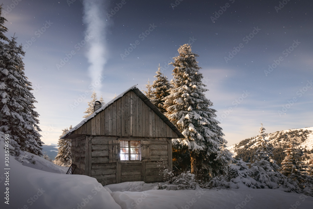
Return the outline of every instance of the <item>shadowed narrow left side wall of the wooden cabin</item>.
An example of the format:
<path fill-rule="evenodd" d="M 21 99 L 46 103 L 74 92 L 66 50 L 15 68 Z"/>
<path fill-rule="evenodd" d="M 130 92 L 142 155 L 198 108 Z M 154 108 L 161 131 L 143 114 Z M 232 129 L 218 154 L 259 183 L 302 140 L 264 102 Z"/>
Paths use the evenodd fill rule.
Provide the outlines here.
<path fill-rule="evenodd" d="M 73 174 L 85 175 L 86 163 L 86 139 L 85 136 L 72 139 L 72 164 L 76 165 Z"/>

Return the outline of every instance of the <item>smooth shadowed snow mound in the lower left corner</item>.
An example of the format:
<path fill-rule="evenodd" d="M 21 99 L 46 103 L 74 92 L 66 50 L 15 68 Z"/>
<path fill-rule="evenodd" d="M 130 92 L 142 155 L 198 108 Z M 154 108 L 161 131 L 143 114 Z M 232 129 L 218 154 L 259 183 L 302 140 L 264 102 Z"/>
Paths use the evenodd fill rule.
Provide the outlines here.
<path fill-rule="evenodd" d="M 0 136 L 0 156 L 3 156 L 4 162 L 3 147 L 3 138 Z M 30 166 L 27 167 L 14 157 L 9 157 L 9 166 L 6 168 L 10 169 L 3 170 L 0 174 L 0 208 L 121 209 L 95 178 L 46 172 L 44 170 L 58 170 L 53 168 L 49 161 L 36 155 L 34 158 L 37 164 L 24 162 L 24 165 Z M 6 177 L 8 179 L 5 185 Z M 5 195 L 9 198 L 9 204 L 5 203 Z"/>

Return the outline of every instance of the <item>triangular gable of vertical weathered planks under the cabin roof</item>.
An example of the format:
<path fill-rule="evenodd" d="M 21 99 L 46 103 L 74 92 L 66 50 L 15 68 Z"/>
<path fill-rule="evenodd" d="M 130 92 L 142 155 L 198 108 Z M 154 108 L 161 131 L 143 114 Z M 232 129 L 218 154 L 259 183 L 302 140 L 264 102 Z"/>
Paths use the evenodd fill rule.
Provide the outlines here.
<path fill-rule="evenodd" d="M 179 138 L 133 91 L 76 129 L 74 134 Z"/>

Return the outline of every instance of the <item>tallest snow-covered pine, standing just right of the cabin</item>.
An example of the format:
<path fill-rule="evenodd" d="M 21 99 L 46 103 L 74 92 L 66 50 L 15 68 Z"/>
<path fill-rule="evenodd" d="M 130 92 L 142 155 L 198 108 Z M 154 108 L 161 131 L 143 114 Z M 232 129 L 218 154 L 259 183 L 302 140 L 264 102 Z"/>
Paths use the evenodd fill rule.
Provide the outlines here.
<path fill-rule="evenodd" d="M 202 168 L 203 161 L 210 167 L 213 175 L 219 173 L 220 168 L 214 166 L 219 144 L 223 140 L 222 128 L 218 126 L 216 110 L 210 108 L 213 103 L 208 100 L 204 92 L 202 74 L 196 61 L 197 54 L 191 51 L 191 45 L 184 44 L 178 49 L 179 55 L 170 63 L 175 68 L 172 75 L 170 95 L 165 97 L 165 115 L 186 137 L 173 139 L 174 149 L 188 149 L 191 158 L 191 172 L 197 174 Z"/>

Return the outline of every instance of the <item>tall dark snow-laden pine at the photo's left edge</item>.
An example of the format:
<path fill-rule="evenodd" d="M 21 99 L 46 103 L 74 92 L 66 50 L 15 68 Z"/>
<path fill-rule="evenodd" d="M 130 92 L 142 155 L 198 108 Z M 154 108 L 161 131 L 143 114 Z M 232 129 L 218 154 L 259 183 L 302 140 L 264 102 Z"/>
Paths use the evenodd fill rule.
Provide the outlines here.
<path fill-rule="evenodd" d="M 0 7 L 1 16 L 2 7 Z M 7 29 L 2 25 L 6 21 L 0 18 L 0 37 L 8 39 L 3 32 Z M 37 102 L 31 93 L 32 84 L 24 73 L 22 57 L 25 52 L 22 45 L 17 46 L 16 38 L 12 37 L 8 44 L 0 41 L 0 131 L 10 134 L 11 153 L 19 155 L 19 150 L 28 151 L 42 156 L 44 144 L 38 131 L 39 114 L 34 111 Z"/>

